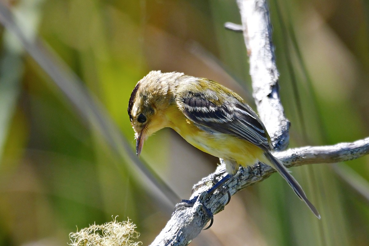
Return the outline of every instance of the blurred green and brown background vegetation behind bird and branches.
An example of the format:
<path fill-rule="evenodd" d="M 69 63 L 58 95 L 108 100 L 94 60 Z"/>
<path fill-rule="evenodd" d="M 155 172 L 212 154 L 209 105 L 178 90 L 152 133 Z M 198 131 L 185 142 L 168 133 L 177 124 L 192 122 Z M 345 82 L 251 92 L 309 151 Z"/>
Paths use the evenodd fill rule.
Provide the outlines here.
<path fill-rule="evenodd" d="M 62 92 L 11 30 L 1 28 L 0 245 L 66 245 L 69 232 L 115 215 L 132 219 L 139 239 L 149 244 L 174 205 L 132 168 L 137 159 L 128 99 L 137 81 L 155 69 L 213 79 L 254 107 L 242 34 L 223 27 L 226 21 L 240 23 L 237 4 L 2 3 L 28 42 L 44 46 L 41 60 L 62 71 L 61 84 L 68 87 L 71 71 L 80 81 Z M 292 122 L 290 147 L 368 136 L 368 0 L 271 0 L 269 5 L 280 94 Z M 98 124 L 91 111 L 95 104 L 83 101 L 79 85 L 106 109 L 97 115 L 119 134 Z M 182 199 L 218 162 L 169 129 L 145 142 L 141 159 Z M 369 197 L 368 161 L 292 169 L 321 220 L 273 175 L 232 197 L 192 245 L 369 245 L 369 201 L 353 188 L 359 183 Z"/>

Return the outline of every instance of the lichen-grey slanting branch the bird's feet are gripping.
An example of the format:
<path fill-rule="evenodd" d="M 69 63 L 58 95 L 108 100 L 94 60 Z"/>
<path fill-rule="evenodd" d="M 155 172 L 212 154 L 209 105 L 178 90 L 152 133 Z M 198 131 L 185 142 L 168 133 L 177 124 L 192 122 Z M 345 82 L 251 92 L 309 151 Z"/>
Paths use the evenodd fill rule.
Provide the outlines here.
<path fill-rule="evenodd" d="M 368 155 L 368 153 L 369 138 L 365 138 L 352 143 L 339 143 L 332 146 L 307 146 L 289 149 L 276 153 L 275 156 L 279 157 L 286 167 L 294 167 L 313 163 L 344 162 Z M 233 195 L 247 186 L 265 180 L 273 172 L 275 170 L 272 167 L 262 163 L 249 168 L 241 167 L 234 179 L 224 185 L 224 191 L 229 191 Z M 178 204 L 172 218 L 151 245 L 187 245 L 199 235 L 211 216 L 222 211 L 228 200 L 227 193 L 219 191 L 204 201 L 206 190 L 211 188 L 211 185 L 204 184 L 208 181 L 211 183 L 214 178 L 220 180 L 224 173 L 225 167 L 218 166 L 214 173 L 196 184 L 197 190 L 191 198 L 198 197 L 193 207 Z"/>

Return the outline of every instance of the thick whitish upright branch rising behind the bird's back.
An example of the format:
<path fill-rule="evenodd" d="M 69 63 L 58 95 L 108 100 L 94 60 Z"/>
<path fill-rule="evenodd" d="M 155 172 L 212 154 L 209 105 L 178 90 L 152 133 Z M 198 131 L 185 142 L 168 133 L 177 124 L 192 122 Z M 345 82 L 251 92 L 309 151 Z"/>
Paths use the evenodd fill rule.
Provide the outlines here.
<path fill-rule="evenodd" d="M 253 96 L 276 150 L 289 143 L 290 122 L 279 98 L 279 73 L 275 63 L 272 27 L 266 0 L 237 0 L 246 48 L 250 57 Z"/>

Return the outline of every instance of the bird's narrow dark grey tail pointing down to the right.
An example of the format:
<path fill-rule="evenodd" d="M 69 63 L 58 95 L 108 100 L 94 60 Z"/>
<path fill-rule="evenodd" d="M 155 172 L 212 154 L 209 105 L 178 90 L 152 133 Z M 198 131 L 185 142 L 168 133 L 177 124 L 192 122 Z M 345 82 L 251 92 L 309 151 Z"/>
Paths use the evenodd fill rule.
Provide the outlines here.
<path fill-rule="evenodd" d="M 318 210 L 314 207 L 313 204 L 307 199 L 303 189 L 301 188 L 300 184 L 297 183 L 296 179 L 292 177 L 292 175 L 289 173 L 287 168 L 278 160 L 276 157 L 272 155 L 272 153 L 265 152 L 265 157 L 269 160 L 271 166 L 287 181 L 287 183 L 291 186 L 292 190 L 296 193 L 296 195 L 306 203 L 306 205 L 310 208 L 311 212 L 315 216 L 317 216 L 318 219 L 320 219 L 320 214 Z"/>

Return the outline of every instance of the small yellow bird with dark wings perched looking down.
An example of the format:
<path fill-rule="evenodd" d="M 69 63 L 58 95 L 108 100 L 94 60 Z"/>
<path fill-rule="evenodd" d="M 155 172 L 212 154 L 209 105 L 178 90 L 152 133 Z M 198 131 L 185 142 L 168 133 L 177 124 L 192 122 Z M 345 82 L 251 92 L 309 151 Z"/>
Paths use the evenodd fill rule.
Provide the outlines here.
<path fill-rule="evenodd" d="M 196 148 L 223 159 L 228 176 L 237 173 L 240 165 L 252 166 L 258 161 L 270 165 L 320 218 L 299 183 L 272 155 L 264 124 L 230 89 L 183 73 L 151 71 L 133 89 L 128 114 L 137 155 L 148 136 L 170 127 Z"/>

